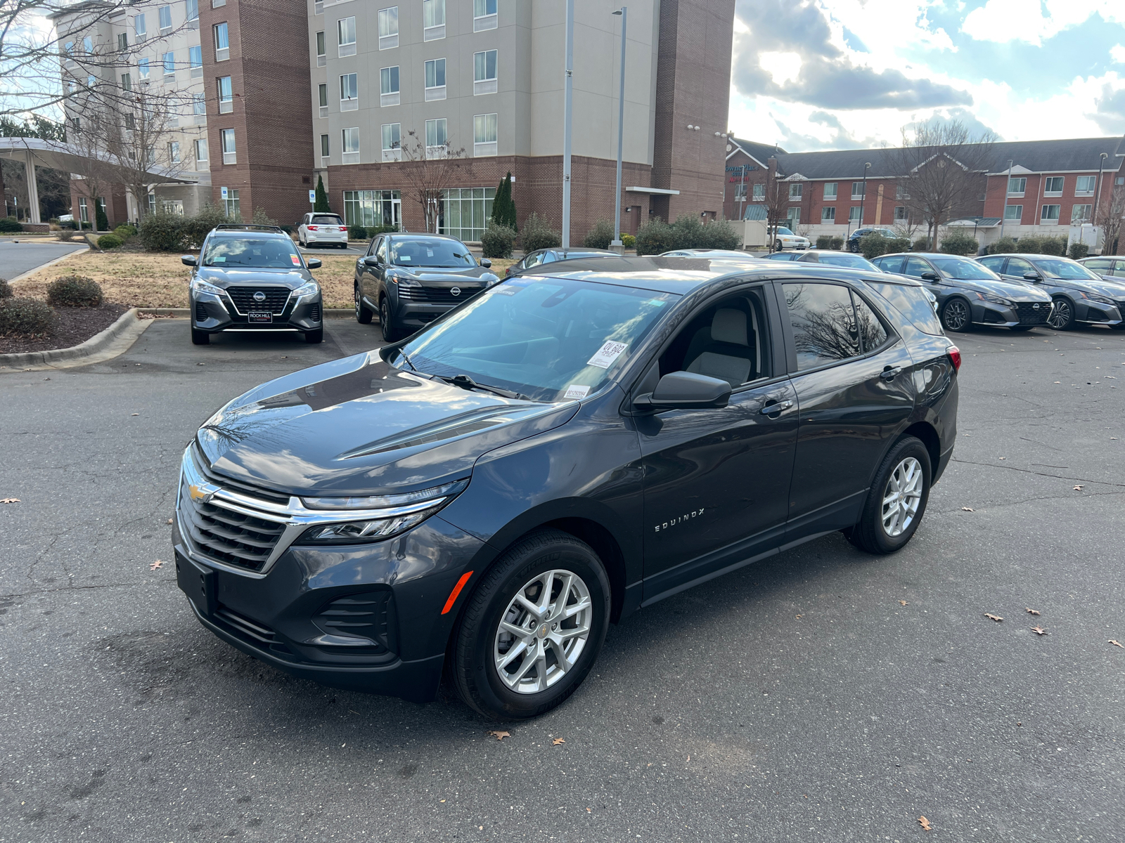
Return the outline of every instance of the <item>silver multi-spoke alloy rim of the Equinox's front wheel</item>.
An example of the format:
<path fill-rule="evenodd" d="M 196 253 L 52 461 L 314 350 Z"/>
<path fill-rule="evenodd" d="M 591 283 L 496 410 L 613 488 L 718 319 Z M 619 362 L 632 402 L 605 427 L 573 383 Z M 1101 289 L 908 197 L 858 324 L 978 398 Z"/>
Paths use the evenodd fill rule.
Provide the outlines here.
<path fill-rule="evenodd" d="M 501 616 L 493 664 L 516 694 L 547 690 L 577 664 L 590 638 L 590 589 L 573 571 L 537 574 L 520 588 Z"/>

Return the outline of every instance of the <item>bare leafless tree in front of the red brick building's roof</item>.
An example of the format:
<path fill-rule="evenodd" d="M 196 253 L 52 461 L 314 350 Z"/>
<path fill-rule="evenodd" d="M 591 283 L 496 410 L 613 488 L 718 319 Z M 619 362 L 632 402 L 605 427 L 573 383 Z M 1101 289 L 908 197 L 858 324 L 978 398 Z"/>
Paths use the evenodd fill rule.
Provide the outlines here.
<path fill-rule="evenodd" d="M 980 210 L 996 135 L 972 135 L 960 120 L 930 120 L 902 128 L 902 146 L 886 160 L 902 185 L 910 219 L 926 224 L 932 247 L 938 229 Z"/>

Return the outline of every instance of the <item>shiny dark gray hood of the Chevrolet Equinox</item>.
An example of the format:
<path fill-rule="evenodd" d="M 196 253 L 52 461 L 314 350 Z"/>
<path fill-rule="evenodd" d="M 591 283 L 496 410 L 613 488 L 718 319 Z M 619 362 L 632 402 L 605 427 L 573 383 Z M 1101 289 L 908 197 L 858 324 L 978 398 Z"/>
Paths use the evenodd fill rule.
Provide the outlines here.
<path fill-rule="evenodd" d="M 234 480 L 288 495 L 385 495 L 467 477 L 482 454 L 557 427 L 578 406 L 470 392 L 372 351 L 263 383 L 196 441 Z"/>

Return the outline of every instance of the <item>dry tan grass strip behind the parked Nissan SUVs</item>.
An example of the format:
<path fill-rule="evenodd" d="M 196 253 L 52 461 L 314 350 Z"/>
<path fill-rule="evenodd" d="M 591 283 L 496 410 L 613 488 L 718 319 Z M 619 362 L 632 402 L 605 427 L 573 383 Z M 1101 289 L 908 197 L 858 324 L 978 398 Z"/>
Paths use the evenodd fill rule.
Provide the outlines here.
<path fill-rule="evenodd" d="M 356 255 L 317 254 L 322 266 L 313 277 L 324 290 L 324 307 L 351 307 Z M 514 261 L 496 259 L 493 270 L 503 277 Z M 143 252 L 82 252 L 16 282 L 17 296 L 47 297 L 47 284 L 78 273 L 101 284 L 106 301 L 126 307 L 187 307 L 190 270 L 179 255 Z"/>

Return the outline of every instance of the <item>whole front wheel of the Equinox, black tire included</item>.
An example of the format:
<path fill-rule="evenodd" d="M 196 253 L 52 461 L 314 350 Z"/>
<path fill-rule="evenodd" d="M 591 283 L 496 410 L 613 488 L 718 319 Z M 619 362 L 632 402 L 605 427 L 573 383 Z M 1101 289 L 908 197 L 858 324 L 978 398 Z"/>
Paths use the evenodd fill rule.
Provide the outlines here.
<path fill-rule="evenodd" d="M 558 604 L 564 588 L 565 608 Z M 518 595 L 525 602 L 518 602 Z M 580 605 L 585 608 L 575 611 Z M 609 577 L 590 545 L 557 529 L 532 533 L 501 555 L 466 602 L 450 652 L 453 687 L 466 705 L 494 719 L 551 710 L 590 673 L 605 642 L 610 608 Z M 550 619 L 559 611 L 574 614 Z M 585 633 L 557 637 L 567 628 Z M 500 664 L 513 650 L 515 658 Z M 569 667 L 561 669 L 564 662 Z"/>

